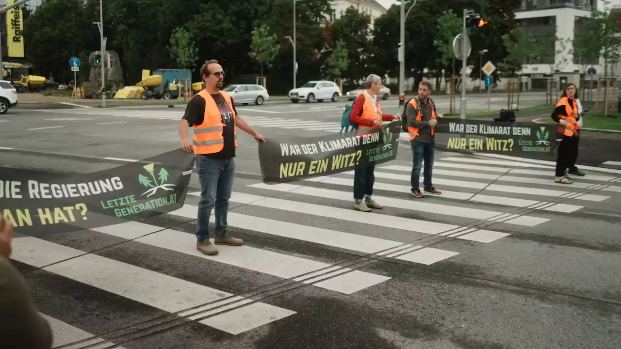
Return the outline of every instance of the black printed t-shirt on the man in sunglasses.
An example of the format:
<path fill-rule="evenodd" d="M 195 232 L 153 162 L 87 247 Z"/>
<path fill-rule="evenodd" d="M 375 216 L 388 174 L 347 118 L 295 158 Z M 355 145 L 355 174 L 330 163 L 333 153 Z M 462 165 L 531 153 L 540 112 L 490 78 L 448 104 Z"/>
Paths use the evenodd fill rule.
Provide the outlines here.
<path fill-rule="evenodd" d="M 233 127 L 235 126 L 235 121 L 233 120 L 233 113 L 229 108 L 229 104 L 225 101 L 222 94 L 212 94 L 214 98 L 215 104 L 218 106 L 218 110 L 220 111 L 220 116 L 222 117 L 222 124 L 225 124 L 222 129 L 222 136 L 224 137 L 224 148 L 220 150 L 220 152 L 213 154 L 203 154 L 203 156 L 207 156 L 212 159 L 220 159 L 227 160 L 235 157 L 235 132 Z M 231 98 L 231 104 L 233 104 L 233 99 Z M 235 105 L 233 105 L 233 112 L 237 114 L 235 110 Z M 183 116 L 183 119 L 188 121 L 188 124 L 193 126 L 198 126 L 202 124 L 203 119 L 205 118 L 205 99 L 201 96 L 196 96 L 190 100 L 188 103 L 188 107 L 186 107 L 186 113 Z"/>

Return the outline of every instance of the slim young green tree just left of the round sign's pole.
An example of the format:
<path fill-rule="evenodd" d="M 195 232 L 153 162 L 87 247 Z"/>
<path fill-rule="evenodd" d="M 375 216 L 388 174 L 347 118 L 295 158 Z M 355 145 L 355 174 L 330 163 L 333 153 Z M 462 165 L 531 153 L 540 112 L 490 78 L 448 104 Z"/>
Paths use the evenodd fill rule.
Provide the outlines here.
<path fill-rule="evenodd" d="M 453 39 L 455 39 L 455 35 L 461 33 L 461 25 L 461 19 L 453 10 L 443 11 L 442 16 L 438 18 L 438 35 L 437 39 L 433 40 L 433 46 L 440 53 L 437 59 L 438 68 L 445 72 L 453 66 L 453 58 L 455 58 Z M 438 73 L 440 72 L 438 71 Z M 446 73 L 444 76 L 446 81 Z M 440 81 L 438 80 L 436 81 L 436 89 L 440 89 Z"/>

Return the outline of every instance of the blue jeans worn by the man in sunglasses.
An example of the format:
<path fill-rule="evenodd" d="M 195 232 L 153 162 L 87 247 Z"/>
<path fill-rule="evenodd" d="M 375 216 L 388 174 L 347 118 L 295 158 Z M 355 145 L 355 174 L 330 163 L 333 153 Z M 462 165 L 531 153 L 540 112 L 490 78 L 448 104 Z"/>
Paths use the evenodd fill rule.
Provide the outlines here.
<path fill-rule="evenodd" d="M 201 182 L 201 201 L 198 204 L 196 239 L 209 240 L 209 217 L 215 206 L 215 236 L 222 237 L 227 232 L 227 213 L 233 189 L 235 161 L 210 159 L 196 155 L 196 168 Z"/>

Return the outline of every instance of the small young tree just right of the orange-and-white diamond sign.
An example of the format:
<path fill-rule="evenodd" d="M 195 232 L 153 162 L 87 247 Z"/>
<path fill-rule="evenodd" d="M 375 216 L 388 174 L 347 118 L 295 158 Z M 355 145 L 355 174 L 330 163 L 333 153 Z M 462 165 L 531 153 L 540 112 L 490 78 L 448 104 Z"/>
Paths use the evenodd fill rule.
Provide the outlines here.
<path fill-rule="evenodd" d="M 515 76 L 522 71 L 528 61 L 535 55 L 533 48 L 536 47 L 535 39 L 521 27 L 511 30 L 509 34 L 502 36 L 502 41 L 509 55 L 499 64 L 502 73 Z"/>

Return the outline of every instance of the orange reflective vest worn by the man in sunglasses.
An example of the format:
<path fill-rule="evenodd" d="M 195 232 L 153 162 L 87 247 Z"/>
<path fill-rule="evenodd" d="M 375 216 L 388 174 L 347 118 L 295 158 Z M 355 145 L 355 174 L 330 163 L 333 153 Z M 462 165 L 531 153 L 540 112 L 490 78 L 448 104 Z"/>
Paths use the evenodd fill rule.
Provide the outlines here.
<path fill-rule="evenodd" d="M 233 114 L 233 134 L 235 135 L 235 148 L 237 148 L 237 127 L 235 126 L 235 109 L 231 103 L 231 97 L 225 91 L 220 91 L 224 100 L 229 104 L 231 114 Z M 222 124 L 222 116 L 217 104 L 215 104 L 214 97 L 202 90 L 195 94 L 193 98 L 197 96 L 202 97 L 205 100 L 205 114 L 202 124 L 194 125 L 194 153 L 195 154 L 213 154 L 220 152 L 224 148 L 224 136 L 222 136 L 222 129 L 225 124 Z"/>

